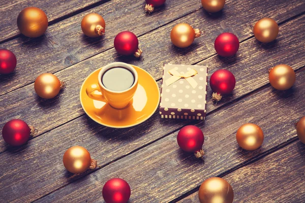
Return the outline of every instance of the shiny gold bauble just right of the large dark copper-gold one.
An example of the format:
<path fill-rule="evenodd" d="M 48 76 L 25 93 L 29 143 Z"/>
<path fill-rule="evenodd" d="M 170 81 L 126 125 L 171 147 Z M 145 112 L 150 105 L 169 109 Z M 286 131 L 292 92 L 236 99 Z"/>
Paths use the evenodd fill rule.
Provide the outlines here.
<path fill-rule="evenodd" d="M 89 13 L 81 20 L 81 30 L 88 37 L 100 37 L 105 34 L 105 20 L 97 13 Z"/>

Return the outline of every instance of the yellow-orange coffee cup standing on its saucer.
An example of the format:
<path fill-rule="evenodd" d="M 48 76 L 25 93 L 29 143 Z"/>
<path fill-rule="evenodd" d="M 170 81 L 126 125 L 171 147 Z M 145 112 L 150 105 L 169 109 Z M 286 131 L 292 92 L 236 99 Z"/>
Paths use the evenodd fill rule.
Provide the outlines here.
<path fill-rule="evenodd" d="M 121 91 L 114 91 L 114 90 L 110 90 L 109 88 L 106 88 L 106 86 L 102 82 L 103 80 L 102 78 L 104 77 L 104 74 L 107 71 L 113 68 L 125 68 L 132 73 L 134 77 L 134 83 L 130 86 L 130 88 Z M 116 77 L 116 76 L 112 76 L 112 77 Z M 112 78 L 107 78 L 107 79 L 112 79 Z M 115 78 L 113 78 L 113 80 L 115 80 Z M 98 81 L 99 83 L 94 83 L 87 86 L 86 93 L 88 97 L 94 100 L 106 102 L 114 108 L 124 108 L 129 104 L 129 102 L 135 95 L 135 92 L 138 87 L 138 73 L 129 64 L 115 62 L 104 66 L 100 70 L 98 75 Z"/>

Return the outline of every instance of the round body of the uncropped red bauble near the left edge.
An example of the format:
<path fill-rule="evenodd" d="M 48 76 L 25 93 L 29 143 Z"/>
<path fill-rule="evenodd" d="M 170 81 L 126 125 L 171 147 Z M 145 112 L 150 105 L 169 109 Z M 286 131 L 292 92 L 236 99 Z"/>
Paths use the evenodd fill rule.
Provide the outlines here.
<path fill-rule="evenodd" d="M 14 147 L 26 143 L 29 135 L 31 135 L 31 129 L 24 121 L 19 119 L 7 122 L 2 129 L 4 141 Z"/>

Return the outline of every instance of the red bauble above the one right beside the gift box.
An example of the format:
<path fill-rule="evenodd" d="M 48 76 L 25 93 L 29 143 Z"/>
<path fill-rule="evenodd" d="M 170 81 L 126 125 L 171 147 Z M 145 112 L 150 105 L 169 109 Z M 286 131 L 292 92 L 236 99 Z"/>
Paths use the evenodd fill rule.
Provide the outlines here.
<path fill-rule="evenodd" d="M 239 41 L 232 33 L 222 33 L 216 38 L 214 47 L 219 55 L 229 57 L 238 51 Z"/>

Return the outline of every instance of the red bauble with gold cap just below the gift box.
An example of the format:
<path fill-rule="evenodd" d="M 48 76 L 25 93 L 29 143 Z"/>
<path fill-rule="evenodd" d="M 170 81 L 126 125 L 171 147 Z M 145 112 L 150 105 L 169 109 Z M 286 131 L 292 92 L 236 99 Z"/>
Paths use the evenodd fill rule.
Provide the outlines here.
<path fill-rule="evenodd" d="M 204 135 L 198 127 L 190 125 L 181 128 L 177 135 L 177 142 L 183 151 L 194 152 L 196 158 L 203 157 Z"/>

